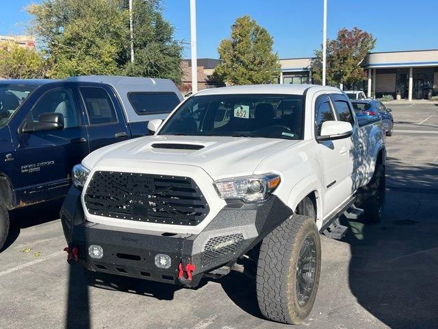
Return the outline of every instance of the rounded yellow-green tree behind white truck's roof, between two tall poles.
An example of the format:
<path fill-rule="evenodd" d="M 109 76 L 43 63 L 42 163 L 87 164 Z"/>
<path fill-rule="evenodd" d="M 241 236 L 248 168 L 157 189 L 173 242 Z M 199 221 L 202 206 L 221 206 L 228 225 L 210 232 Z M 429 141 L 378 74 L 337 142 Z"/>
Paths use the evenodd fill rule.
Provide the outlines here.
<path fill-rule="evenodd" d="M 227 84 L 266 84 L 280 75 L 279 57 L 272 51 L 274 41 L 268 31 L 246 15 L 231 26 L 231 38 L 220 42 L 222 61 L 214 78 Z"/>

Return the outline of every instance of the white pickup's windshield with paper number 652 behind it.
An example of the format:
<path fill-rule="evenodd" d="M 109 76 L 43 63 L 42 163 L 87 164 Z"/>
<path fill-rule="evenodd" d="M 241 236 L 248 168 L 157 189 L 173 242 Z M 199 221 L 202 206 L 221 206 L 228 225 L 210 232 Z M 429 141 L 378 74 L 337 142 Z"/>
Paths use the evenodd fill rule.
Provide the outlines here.
<path fill-rule="evenodd" d="M 160 135 L 302 138 L 301 95 L 194 96 Z"/>

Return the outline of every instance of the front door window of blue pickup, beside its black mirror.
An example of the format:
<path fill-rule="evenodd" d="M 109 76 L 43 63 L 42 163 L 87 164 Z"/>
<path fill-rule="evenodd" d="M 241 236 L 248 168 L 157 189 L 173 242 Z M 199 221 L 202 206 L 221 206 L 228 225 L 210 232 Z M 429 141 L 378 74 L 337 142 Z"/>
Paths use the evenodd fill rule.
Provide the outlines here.
<path fill-rule="evenodd" d="M 70 88 L 57 88 L 42 95 L 31 110 L 31 120 L 38 121 L 42 113 L 61 113 L 64 116 L 64 128 L 80 125 L 75 97 Z"/>

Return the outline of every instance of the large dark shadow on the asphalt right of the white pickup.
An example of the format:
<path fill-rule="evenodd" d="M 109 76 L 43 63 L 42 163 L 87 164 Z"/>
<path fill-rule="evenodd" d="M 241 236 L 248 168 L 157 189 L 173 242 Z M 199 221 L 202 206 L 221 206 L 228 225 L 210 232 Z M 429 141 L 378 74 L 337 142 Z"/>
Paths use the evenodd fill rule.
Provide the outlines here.
<path fill-rule="evenodd" d="M 391 328 L 436 328 L 438 166 L 402 167 L 392 159 L 389 167 L 383 221 L 347 224 L 350 289 L 359 304 Z M 394 177 L 398 186 L 391 186 Z"/>

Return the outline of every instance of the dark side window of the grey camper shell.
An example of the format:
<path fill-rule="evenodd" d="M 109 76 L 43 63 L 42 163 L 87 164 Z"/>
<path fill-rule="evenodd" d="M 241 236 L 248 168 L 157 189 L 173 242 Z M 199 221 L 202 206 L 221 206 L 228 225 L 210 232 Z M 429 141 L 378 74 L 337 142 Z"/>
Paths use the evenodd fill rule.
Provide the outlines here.
<path fill-rule="evenodd" d="M 128 93 L 128 99 L 139 115 L 170 113 L 179 103 L 175 93 Z"/>

